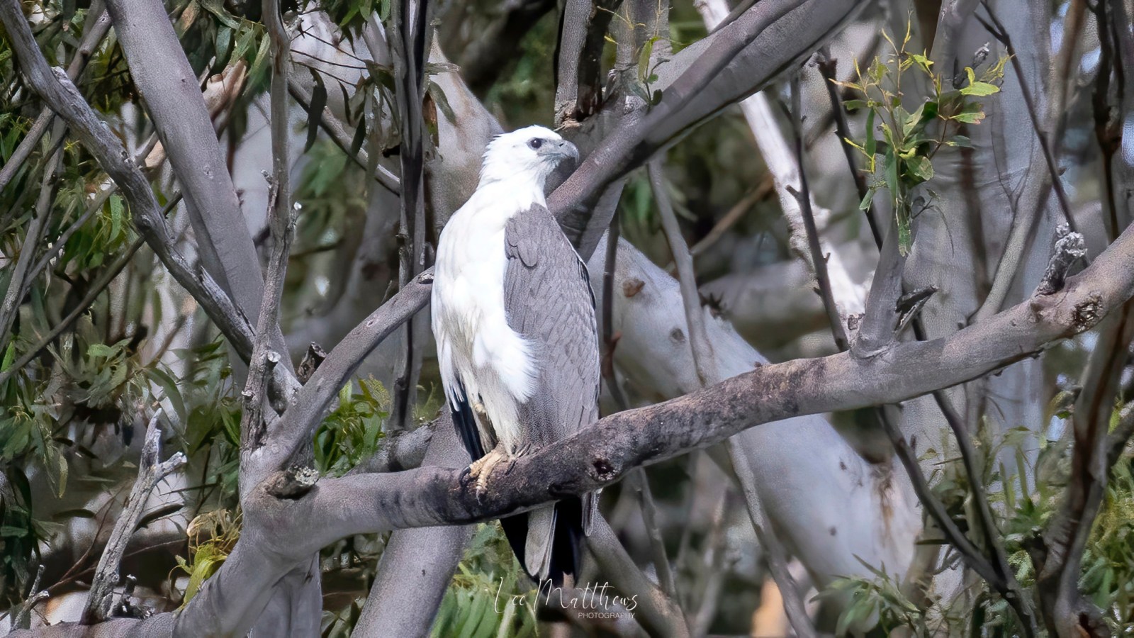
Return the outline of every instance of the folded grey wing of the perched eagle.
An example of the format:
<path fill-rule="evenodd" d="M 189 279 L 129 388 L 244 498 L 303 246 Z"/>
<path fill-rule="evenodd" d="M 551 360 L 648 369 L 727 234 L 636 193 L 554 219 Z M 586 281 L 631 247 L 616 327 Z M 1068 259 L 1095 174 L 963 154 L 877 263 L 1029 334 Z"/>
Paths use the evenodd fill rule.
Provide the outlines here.
<path fill-rule="evenodd" d="M 533 345 L 539 370 L 519 408 L 528 443 L 542 447 L 599 418 L 599 333 L 586 265 L 542 205 L 505 227 L 508 325 Z"/>

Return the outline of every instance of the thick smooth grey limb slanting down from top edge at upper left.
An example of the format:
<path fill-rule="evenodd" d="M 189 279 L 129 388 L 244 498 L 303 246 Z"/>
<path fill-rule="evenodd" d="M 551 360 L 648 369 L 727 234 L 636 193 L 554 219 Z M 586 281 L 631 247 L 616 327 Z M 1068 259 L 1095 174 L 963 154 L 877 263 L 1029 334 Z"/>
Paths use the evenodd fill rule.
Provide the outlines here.
<path fill-rule="evenodd" d="M 161 0 L 107 2 L 115 33 L 181 185 L 202 263 L 255 324 L 264 280 L 196 75 Z M 284 350 L 281 335 L 273 346 Z M 285 364 L 290 369 L 290 360 Z"/>

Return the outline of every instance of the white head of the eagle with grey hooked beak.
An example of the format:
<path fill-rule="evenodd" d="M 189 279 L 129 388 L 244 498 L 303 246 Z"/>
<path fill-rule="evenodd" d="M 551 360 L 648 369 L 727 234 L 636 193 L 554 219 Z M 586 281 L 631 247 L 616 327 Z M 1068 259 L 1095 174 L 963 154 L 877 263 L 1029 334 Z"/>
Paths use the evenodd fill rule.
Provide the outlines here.
<path fill-rule="evenodd" d="M 542 190 L 548 176 L 566 159 L 578 161 L 578 149 L 558 133 L 542 126 L 527 126 L 497 135 L 484 150 L 481 184 L 523 179 Z"/>

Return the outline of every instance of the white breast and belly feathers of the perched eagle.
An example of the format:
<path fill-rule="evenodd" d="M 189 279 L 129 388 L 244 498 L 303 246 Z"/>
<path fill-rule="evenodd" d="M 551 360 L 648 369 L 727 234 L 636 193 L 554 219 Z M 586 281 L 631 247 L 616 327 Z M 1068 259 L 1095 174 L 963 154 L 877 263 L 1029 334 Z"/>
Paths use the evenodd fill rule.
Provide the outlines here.
<path fill-rule="evenodd" d="M 515 451 L 521 443 L 517 406 L 535 391 L 536 367 L 531 344 L 508 326 L 505 226 L 521 211 L 545 203 L 534 185 L 509 182 L 482 185 L 441 232 L 432 320 L 447 398 L 456 398 L 459 376 L 469 404 L 482 402 L 492 434 Z M 484 446 L 486 452 L 489 440 Z"/>

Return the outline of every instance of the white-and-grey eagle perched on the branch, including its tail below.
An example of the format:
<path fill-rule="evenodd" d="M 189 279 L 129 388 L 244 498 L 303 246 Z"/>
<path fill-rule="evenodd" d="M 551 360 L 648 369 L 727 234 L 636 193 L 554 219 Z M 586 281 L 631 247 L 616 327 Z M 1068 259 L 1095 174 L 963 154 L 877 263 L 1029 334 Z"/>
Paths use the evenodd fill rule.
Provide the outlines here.
<path fill-rule="evenodd" d="M 599 415 L 599 339 L 586 266 L 547 208 L 574 144 L 542 126 L 499 135 L 473 196 L 441 232 L 433 335 L 452 422 L 483 493 L 492 468 Z M 500 521 L 528 576 L 577 573 L 594 494 Z"/>

